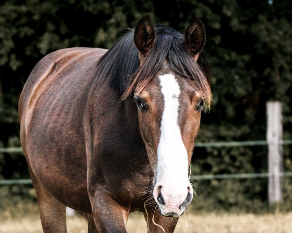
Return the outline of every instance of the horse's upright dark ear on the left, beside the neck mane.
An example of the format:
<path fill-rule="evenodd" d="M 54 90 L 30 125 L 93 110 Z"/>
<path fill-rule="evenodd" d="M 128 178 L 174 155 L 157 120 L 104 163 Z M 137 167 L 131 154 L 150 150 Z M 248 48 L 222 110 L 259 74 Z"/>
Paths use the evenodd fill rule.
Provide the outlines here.
<path fill-rule="evenodd" d="M 137 23 L 134 41 L 139 51 L 146 53 L 151 49 L 155 39 L 155 29 L 148 15 L 142 17 Z"/>

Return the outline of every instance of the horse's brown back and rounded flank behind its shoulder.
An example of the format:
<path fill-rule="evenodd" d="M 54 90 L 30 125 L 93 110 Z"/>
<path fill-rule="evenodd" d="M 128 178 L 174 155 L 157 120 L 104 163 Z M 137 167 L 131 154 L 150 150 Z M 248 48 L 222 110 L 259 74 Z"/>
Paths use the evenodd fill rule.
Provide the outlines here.
<path fill-rule="evenodd" d="M 20 138 L 30 171 L 68 206 L 77 198 L 90 208 L 83 115 L 98 59 L 106 51 L 50 53 L 31 72 L 19 100 Z"/>

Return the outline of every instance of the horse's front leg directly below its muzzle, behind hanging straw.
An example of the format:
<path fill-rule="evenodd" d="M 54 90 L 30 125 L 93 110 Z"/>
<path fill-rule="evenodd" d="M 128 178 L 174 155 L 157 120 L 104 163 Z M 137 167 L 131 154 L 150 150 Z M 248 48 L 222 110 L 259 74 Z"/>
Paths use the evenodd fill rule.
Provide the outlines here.
<path fill-rule="evenodd" d="M 173 233 L 178 223 L 178 217 L 165 217 L 155 209 L 143 212 L 148 226 L 148 233 Z M 153 217 L 154 215 L 154 217 Z"/>

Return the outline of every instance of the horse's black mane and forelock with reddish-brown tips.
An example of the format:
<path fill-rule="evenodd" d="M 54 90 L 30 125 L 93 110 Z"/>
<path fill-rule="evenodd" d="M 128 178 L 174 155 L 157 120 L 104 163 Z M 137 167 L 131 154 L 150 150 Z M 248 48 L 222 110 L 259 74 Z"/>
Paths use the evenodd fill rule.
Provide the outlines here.
<path fill-rule="evenodd" d="M 175 73 L 195 80 L 198 90 L 205 93 L 204 89 L 207 87 L 201 86 L 204 86 L 202 83 L 206 79 L 210 83 L 210 71 L 204 55 L 201 53 L 196 63 L 185 47 L 183 34 L 170 27 L 156 25 L 155 33 L 154 45 L 140 66 L 138 49 L 134 43 L 134 30 L 129 29 L 98 62 L 99 79 L 108 80 L 110 87 L 123 95 L 133 82 L 136 82 L 134 85 L 148 83 L 166 59 Z"/>

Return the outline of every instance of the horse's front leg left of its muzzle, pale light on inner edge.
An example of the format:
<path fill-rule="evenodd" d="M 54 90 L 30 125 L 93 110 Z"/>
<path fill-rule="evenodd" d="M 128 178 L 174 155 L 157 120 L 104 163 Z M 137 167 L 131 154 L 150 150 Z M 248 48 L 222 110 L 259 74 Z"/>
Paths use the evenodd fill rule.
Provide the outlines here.
<path fill-rule="evenodd" d="M 89 189 L 92 214 L 100 233 L 127 233 L 128 211 L 104 186 Z"/>

